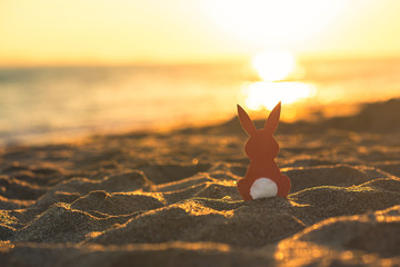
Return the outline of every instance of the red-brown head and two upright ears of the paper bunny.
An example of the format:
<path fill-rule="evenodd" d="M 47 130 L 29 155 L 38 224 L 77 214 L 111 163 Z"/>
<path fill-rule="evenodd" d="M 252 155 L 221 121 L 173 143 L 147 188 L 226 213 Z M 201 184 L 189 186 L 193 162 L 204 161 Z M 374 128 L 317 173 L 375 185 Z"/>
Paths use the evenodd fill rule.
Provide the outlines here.
<path fill-rule="evenodd" d="M 244 147 L 244 152 L 250 160 L 273 160 L 278 156 L 279 146 L 273 138 L 273 132 L 278 127 L 280 110 L 281 102 L 272 109 L 264 128 L 257 130 L 249 115 L 238 105 L 240 123 L 250 136 Z"/>

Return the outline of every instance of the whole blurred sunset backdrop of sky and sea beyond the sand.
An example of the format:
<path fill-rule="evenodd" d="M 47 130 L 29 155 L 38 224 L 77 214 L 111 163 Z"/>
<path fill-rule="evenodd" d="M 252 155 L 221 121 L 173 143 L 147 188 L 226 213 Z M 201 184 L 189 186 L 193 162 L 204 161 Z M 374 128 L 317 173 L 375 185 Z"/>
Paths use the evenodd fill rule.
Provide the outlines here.
<path fill-rule="evenodd" d="M 0 0 L 0 144 L 400 97 L 397 0 Z"/>

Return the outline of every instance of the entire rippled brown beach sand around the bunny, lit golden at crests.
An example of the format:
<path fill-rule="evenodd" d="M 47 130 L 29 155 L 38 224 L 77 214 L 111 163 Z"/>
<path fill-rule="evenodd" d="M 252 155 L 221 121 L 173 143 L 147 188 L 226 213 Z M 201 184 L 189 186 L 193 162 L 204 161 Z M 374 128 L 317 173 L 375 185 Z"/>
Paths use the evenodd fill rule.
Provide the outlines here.
<path fill-rule="evenodd" d="M 400 266 L 399 121 L 390 100 L 281 123 L 291 194 L 246 202 L 236 118 L 1 148 L 0 265 Z"/>

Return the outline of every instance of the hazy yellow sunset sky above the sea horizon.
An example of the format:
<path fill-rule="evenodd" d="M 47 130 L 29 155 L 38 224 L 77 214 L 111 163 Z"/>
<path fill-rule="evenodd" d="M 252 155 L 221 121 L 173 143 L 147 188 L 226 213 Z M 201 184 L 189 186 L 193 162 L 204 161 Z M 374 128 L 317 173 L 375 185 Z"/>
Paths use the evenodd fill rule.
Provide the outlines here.
<path fill-rule="evenodd" d="M 398 0 L 0 0 L 0 66 L 400 57 Z"/>

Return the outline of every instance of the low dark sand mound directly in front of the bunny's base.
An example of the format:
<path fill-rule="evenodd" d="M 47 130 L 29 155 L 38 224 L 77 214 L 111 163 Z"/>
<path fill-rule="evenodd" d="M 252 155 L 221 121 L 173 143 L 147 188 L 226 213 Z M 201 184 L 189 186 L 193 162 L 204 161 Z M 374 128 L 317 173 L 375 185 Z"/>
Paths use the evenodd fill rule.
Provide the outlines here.
<path fill-rule="evenodd" d="M 278 199 L 278 201 L 286 200 Z M 233 205 L 238 206 L 238 204 Z M 304 227 L 301 221 L 288 212 L 277 212 L 277 209 L 273 208 L 268 209 L 261 201 L 258 206 L 256 210 L 246 206 L 217 210 L 203 205 L 202 199 L 187 200 L 142 214 L 128 224 L 106 231 L 90 241 L 129 244 L 180 240 L 260 247 L 291 236 Z M 261 221 L 262 224 L 260 224 Z M 284 224 L 279 224 L 280 221 L 284 221 Z M 154 228 L 159 228 L 159 230 L 154 231 Z"/>

